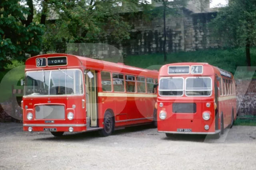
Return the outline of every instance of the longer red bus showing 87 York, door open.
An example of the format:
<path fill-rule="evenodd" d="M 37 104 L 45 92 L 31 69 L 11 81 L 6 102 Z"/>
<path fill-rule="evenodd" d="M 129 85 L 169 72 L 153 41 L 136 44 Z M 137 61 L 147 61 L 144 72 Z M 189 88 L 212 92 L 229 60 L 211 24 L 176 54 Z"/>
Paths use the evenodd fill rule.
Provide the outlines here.
<path fill-rule="evenodd" d="M 25 65 L 24 131 L 108 136 L 132 125 L 156 127 L 157 70 L 68 54 L 38 55 Z"/>

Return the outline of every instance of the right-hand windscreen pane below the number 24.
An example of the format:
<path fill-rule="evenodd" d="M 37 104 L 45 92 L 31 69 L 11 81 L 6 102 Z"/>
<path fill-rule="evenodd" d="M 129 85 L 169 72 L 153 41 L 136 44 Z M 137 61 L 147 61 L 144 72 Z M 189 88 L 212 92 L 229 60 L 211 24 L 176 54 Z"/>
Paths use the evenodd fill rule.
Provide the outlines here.
<path fill-rule="evenodd" d="M 186 78 L 186 96 L 210 96 L 212 94 L 212 79 L 210 77 Z"/>

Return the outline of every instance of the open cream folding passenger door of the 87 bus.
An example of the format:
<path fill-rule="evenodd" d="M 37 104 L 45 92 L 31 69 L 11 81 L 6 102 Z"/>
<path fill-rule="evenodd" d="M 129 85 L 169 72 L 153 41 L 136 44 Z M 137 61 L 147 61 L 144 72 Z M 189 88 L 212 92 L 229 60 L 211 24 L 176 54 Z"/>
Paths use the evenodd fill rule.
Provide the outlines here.
<path fill-rule="evenodd" d="M 95 70 L 88 70 L 93 75 L 92 78 L 86 74 L 86 107 L 87 117 L 90 118 L 90 127 L 97 127 L 97 78 Z M 89 122 L 86 122 L 89 123 Z"/>

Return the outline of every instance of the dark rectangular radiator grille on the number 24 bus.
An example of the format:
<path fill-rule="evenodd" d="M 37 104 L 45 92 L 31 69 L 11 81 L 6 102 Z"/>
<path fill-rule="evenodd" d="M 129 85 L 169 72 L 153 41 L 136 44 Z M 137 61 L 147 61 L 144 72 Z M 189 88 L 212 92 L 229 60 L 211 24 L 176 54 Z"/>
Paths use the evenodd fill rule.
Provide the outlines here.
<path fill-rule="evenodd" d="M 173 103 L 172 104 L 173 113 L 196 113 L 195 103 Z"/>

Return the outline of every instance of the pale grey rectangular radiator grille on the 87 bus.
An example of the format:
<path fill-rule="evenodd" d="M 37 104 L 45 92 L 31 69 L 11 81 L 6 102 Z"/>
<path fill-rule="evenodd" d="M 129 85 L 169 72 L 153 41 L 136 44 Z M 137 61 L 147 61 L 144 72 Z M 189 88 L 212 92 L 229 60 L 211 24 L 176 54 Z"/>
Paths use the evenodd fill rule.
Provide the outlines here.
<path fill-rule="evenodd" d="M 65 108 L 61 105 L 36 106 L 36 119 L 65 119 Z"/>

